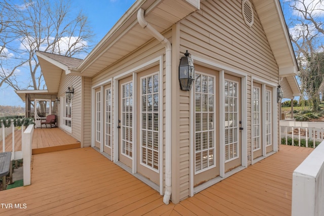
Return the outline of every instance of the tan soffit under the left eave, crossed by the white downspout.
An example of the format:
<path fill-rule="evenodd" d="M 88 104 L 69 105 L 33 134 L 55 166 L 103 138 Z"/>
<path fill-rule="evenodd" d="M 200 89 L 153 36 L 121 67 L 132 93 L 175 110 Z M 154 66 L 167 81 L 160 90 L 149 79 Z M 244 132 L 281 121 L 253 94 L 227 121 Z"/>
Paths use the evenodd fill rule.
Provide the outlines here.
<path fill-rule="evenodd" d="M 197 8 L 188 2 L 195 2 Z M 198 10 L 199 1 L 137 1 L 77 68 L 82 76 L 94 76 L 153 38 L 137 21 L 140 8 L 145 20 L 161 33 Z"/>

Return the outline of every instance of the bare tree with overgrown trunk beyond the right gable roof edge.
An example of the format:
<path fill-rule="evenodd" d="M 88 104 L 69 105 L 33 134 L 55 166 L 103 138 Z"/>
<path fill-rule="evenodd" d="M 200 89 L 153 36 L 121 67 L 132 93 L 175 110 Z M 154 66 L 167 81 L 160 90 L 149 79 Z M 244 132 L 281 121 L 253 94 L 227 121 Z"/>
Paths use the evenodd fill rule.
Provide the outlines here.
<path fill-rule="evenodd" d="M 312 102 L 312 109 L 318 111 L 319 96 L 324 90 L 324 2 L 294 0 L 285 3 L 292 9 L 289 26 L 294 26 L 290 28 L 290 33 L 300 68 L 301 89 Z"/>

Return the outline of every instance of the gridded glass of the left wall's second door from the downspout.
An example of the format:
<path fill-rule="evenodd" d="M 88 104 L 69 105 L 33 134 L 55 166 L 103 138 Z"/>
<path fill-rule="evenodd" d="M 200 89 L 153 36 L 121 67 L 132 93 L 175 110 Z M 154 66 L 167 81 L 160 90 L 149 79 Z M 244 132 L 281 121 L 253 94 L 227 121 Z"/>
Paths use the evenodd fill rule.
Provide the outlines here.
<path fill-rule="evenodd" d="M 133 157 L 133 82 L 121 85 L 121 154 Z"/>

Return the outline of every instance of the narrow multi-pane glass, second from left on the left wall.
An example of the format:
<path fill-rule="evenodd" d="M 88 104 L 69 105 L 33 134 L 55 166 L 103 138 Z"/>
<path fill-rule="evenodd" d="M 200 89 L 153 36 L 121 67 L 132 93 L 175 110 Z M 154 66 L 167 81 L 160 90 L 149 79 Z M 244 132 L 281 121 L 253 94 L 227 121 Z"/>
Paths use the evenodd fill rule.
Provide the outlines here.
<path fill-rule="evenodd" d="M 111 147 L 111 88 L 105 90 L 105 146 Z"/>

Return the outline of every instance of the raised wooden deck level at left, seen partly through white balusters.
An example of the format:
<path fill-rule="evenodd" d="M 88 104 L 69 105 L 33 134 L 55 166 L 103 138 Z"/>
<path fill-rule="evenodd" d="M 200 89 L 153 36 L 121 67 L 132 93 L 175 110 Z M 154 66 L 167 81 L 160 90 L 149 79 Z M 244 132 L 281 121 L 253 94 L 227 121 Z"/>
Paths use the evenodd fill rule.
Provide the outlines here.
<path fill-rule="evenodd" d="M 12 136 L 6 138 L 6 151 L 12 151 Z M 21 131 L 15 131 L 15 151 L 21 151 Z M 0 141 L 2 148 L 2 141 Z M 60 128 L 35 128 L 32 141 L 32 154 L 80 148 L 80 142 Z"/>

